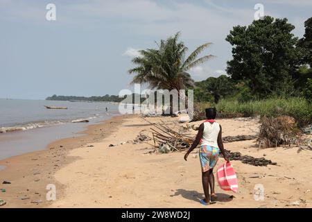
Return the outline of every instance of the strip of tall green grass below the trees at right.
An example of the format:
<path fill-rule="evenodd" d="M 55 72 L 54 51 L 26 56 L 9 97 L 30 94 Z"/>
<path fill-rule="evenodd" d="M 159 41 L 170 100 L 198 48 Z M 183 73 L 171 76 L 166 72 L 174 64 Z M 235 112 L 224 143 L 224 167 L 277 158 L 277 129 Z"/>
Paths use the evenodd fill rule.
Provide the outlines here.
<path fill-rule="evenodd" d="M 263 99 L 245 103 L 222 99 L 216 105 L 212 103 L 200 104 L 200 108 L 209 106 L 215 106 L 218 112 L 229 117 L 254 117 L 257 115 L 278 117 L 287 115 L 295 118 L 300 126 L 312 123 L 312 105 L 302 97 Z"/>

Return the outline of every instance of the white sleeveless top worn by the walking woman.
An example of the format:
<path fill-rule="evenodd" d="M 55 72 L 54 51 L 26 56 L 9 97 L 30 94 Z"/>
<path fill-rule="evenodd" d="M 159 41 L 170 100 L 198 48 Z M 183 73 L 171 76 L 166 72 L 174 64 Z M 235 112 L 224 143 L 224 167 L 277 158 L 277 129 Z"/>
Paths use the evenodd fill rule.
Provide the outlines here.
<path fill-rule="evenodd" d="M 220 132 L 220 125 L 217 122 L 204 123 L 204 132 L 202 133 L 202 144 L 207 146 L 218 147 L 218 135 Z"/>

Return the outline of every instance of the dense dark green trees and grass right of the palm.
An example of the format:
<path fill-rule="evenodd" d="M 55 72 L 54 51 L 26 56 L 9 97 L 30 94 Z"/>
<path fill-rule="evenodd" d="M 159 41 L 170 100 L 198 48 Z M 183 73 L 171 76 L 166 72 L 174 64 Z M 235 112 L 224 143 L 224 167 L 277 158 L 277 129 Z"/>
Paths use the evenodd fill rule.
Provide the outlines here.
<path fill-rule="evenodd" d="M 302 39 L 287 19 L 265 17 L 250 26 L 235 26 L 226 40 L 233 59 L 227 76 L 196 82 L 200 109 L 215 106 L 224 117 L 255 115 L 294 117 L 312 123 L 312 18 Z"/>

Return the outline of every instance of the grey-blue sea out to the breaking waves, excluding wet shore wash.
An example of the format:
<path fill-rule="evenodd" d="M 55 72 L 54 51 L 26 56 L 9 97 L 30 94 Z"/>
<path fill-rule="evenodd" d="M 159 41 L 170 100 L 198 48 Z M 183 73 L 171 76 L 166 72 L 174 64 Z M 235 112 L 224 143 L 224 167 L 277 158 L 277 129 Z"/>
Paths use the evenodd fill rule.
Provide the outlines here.
<path fill-rule="evenodd" d="M 49 110 L 48 106 L 66 106 L 67 110 Z M 24 99 L 0 99 L 0 128 L 65 123 L 75 119 L 98 118 L 118 112 L 118 105 L 103 102 L 70 102 Z"/>

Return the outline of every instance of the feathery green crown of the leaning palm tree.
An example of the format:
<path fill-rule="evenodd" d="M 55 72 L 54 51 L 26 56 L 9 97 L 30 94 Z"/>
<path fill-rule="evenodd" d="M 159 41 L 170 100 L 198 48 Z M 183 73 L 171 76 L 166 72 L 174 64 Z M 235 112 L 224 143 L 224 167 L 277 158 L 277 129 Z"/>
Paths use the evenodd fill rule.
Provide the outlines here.
<path fill-rule="evenodd" d="M 214 56 L 198 55 L 211 43 L 205 43 L 185 58 L 188 51 L 183 42 L 179 42 L 180 33 L 157 44 L 158 49 L 141 50 L 132 60 L 137 67 L 130 69 L 130 74 L 136 74 L 132 83 L 148 83 L 151 89 L 185 89 L 193 87 L 194 82 L 188 71 Z"/>

